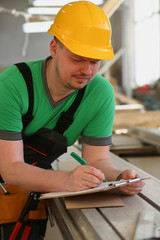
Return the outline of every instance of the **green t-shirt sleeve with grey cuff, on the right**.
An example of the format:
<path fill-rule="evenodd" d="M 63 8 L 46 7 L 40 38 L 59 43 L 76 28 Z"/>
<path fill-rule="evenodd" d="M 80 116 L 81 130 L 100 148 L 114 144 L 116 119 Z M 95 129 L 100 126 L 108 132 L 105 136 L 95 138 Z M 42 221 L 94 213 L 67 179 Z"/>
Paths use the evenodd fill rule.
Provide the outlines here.
<path fill-rule="evenodd" d="M 82 140 L 84 142 L 92 138 L 95 145 L 111 144 L 113 120 L 115 114 L 115 96 L 112 85 L 106 81 L 106 86 L 101 88 L 95 103 L 95 114 L 83 130 Z M 94 102 L 93 102 L 94 104 Z M 108 144 L 107 144 L 108 142 Z M 93 144 L 94 145 L 94 144 Z"/>

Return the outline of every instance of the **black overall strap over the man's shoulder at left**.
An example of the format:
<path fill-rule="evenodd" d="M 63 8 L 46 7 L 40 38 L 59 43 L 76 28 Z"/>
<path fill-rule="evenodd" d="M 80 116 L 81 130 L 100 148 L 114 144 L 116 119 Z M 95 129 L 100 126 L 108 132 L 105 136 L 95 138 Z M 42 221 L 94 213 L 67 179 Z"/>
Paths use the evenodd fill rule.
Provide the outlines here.
<path fill-rule="evenodd" d="M 24 62 L 15 64 L 20 73 L 22 74 L 28 90 L 28 98 L 29 98 L 29 104 L 28 104 L 28 111 L 25 115 L 22 116 L 22 122 L 23 122 L 23 129 L 27 127 L 27 125 L 32 121 L 33 119 L 33 81 L 32 81 L 32 73 L 28 65 Z"/>

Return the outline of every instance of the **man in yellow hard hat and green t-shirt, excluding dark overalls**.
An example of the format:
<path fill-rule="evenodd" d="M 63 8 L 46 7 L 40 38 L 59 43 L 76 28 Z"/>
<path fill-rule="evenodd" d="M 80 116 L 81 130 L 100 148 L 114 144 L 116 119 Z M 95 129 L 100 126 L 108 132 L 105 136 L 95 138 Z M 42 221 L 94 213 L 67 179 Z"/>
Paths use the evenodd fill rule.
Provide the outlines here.
<path fill-rule="evenodd" d="M 97 74 L 100 59 L 114 57 L 107 16 L 90 2 L 73 2 L 60 10 L 48 32 L 54 35 L 51 57 L 27 63 L 33 77 L 34 107 L 33 120 L 24 130 L 22 116 L 28 109 L 24 79 L 16 66 L 8 67 L 0 77 L 0 174 L 4 181 L 29 191 L 52 192 L 97 187 L 104 178 L 139 177 L 133 170 L 122 172 L 109 160 L 114 93 L 111 84 Z M 32 135 L 44 127 L 53 129 L 85 86 L 74 121 L 63 135 L 67 146 L 82 135 L 82 157 L 89 166 L 60 172 L 25 163 L 22 130 Z M 141 181 L 120 190 L 133 195 L 143 186 Z"/>

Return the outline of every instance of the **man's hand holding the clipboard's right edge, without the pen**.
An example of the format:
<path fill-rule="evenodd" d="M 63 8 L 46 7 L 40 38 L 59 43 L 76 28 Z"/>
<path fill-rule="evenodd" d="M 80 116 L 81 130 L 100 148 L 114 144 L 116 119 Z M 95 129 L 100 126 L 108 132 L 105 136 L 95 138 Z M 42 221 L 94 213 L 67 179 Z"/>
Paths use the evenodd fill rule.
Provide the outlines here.
<path fill-rule="evenodd" d="M 123 172 L 121 179 L 131 179 L 131 178 L 139 178 L 139 177 L 141 176 L 136 171 L 126 169 Z M 144 185 L 145 185 L 145 181 L 139 181 L 136 183 L 130 183 L 128 185 L 119 187 L 117 189 L 127 195 L 135 195 L 143 190 Z"/>

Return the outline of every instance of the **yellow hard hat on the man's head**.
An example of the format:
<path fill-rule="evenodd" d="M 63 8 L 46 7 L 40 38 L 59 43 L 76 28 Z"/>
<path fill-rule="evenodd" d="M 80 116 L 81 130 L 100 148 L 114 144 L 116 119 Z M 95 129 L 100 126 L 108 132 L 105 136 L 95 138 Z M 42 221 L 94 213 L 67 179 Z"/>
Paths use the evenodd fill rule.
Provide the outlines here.
<path fill-rule="evenodd" d="M 111 25 L 105 12 L 89 1 L 66 4 L 58 12 L 48 33 L 71 52 L 93 59 L 113 59 Z"/>

